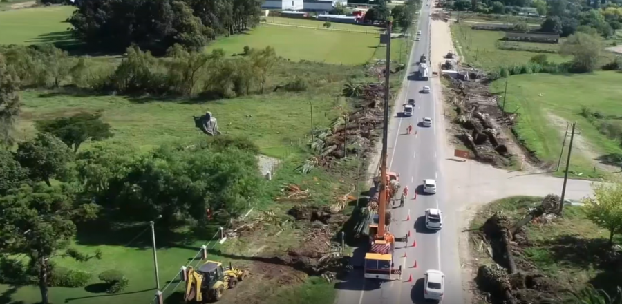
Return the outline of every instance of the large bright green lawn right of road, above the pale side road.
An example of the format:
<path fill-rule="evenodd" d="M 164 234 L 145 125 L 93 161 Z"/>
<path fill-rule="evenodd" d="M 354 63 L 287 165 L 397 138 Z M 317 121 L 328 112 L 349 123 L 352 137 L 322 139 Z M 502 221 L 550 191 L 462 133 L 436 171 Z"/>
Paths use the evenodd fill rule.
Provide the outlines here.
<path fill-rule="evenodd" d="M 509 77 L 506 109 L 519 113 L 515 128 L 520 139 L 525 140 L 529 149 L 536 151 L 540 160 L 554 164 L 559 157 L 565 124 L 554 122 L 549 113 L 569 122 L 576 121 L 578 131 L 590 149 L 573 149 L 570 173 L 574 171 L 583 173 L 583 177 L 596 177 L 600 173 L 594 173 L 595 161 L 587 158 L 586 153 L 609 155 L 622 153 L 622 149 L 619 142 L 599 133 L 594 124 L 581 116 L 581 108 L 586 106 L 605 115 L 622 117 L 621 81 L 622 74 L 616 72 L 515 75 Z M 502 93 L 504 86 L 505 80 L 493 82 L 491 92 Z"/>

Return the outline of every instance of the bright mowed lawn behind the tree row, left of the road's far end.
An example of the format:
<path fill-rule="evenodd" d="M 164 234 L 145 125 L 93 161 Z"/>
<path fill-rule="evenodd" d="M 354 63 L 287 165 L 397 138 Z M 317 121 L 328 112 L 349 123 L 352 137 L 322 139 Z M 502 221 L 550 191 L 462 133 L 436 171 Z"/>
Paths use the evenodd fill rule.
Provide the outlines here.
<path fill-rule="evenodd" d="M 234 55 L 242 53 L 244 46 L 272 46 L 277 55 L 294 61 L 359 65 L 372 58 L 378 44 L 379 35 L 262 24 L 247 34 L 218 39 L 207 50 L 222 48 Z"/>

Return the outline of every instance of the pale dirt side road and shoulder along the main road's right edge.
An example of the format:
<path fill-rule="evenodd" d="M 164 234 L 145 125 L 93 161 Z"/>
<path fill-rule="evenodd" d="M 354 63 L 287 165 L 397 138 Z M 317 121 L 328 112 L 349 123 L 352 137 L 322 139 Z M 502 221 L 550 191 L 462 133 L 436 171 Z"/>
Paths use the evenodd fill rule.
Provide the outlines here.
<path fill-rule="evenodd" d="M 438 66 L 445 59 L 444 54 L 448 50 L 455 53 L 455 48 L 451 40 L 449 23 L 442 20 L 431 21 L 431 59 L 433 66 Z M 437 108 L 443 108 L 444 99 L 442 96 L 442 86 L 439 79 L 433 88 L 435 95 L 438 96 Z M 449 122 L 445 122 L 449 126 Z M 507 170 L 495 169 L 489 165 L 480 164 L 474 161 L 456 162 L 450 160 L 453 156 L 453 147 L 449 146 L 449 141 L 445 140 L 444 158 L 442 174 L 445 178 L 445 191 L 448 191 L 448 200 L 453 202 L 453 206 L 459 208 L 460 214 L 459 238 L 460 264 L 462 267 L 462 285 L 464 303 L 471 303 L 470 282 L 474 274 L 471 274 L 469 263 L 468 238 L 462 230 L 469 227 L 469 222 L 473 218 L 474 212 L 478 207 L 492 200 L 498 200 L 507 196 L 545 196 L 548 193 L 561 193 L 563 180 L 552 176 L 538 173 L 529 174 L 521 171 L 509 172 Z M 566 190 L 566 198 L 583 198 L 590 196 L 592 190 L 590 181 L 569 180 Z"/>

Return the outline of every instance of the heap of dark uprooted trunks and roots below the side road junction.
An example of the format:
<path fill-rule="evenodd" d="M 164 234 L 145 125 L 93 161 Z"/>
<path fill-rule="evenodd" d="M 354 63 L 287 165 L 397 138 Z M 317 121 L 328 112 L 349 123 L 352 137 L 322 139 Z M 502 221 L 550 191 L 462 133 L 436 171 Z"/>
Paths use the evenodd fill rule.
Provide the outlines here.
<path fill-rule="evenodd" d="M 534 218 L 553 215 L 560 211 L 561 200 L 555 194 L 545 196 L 540 205 L 530 208 L 529 212 L 516 223 L 512 223 L 502 212 L 493 215 L 480 227 L 484 241 L 491 247 L 493 265 L 482 265 L 478 269 L 475 282 L 485 292 L 492 303 L 523 303 L 525 294 L 537 294 L 546 298 L 552 287 L 546 278 L 537 273 L 527 273 L 518 269 L 513 257 L 514 238 Z"/>

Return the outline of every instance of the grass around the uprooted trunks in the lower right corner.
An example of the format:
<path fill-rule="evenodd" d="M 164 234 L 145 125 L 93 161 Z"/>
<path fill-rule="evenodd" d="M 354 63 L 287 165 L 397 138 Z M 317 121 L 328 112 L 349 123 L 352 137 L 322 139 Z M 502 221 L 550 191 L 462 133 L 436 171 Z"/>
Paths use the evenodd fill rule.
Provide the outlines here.
<path fill-rule="evenodd" d="M 542 198 L 534 196 L 512 196 L 490 202 L 482 207 L 471 222 L 471 229 L 478 229 L 494 212 L 501 211 L 511 223 L 518 222 Z M 528 245 L 513 245 L 518 247 L 520 254 L 515 254 L 516 265 L 519 269 L 528 269 L 529 272 L 539 272 L 550 278 L 550 282 L 557 287 L 566 287 L 580 290 L 585 284 L 591 283 L 596 288 L 603 288 L 607 292 L 614 292 L 615 285 L 620 284 L 621 276 L 616 272 L 609 272 L 599 259 L 603 256 L 609 239 L 608 231 L 600 229 L 587 219 L 583 207 L 564 208 L 563 218 L 555 218 L 545 224 L 529 223 L 525 227 L 525 238 Z M 480 231 L 471 231 L 471 252 L 477 265 L 491 263 L 491 258 L 485 249 L 479 251 Z M 614 237 L 614 243 L 620 244 L 622 238 Z M 569 285 L 572 283 L 572 286 Z M 569 292 L 560 290 L 558 296 L 567 298 Z M 610 293 L 611 294 L 611 293 Z M 564 303 L 576 303 L 564 302 Z"/>

